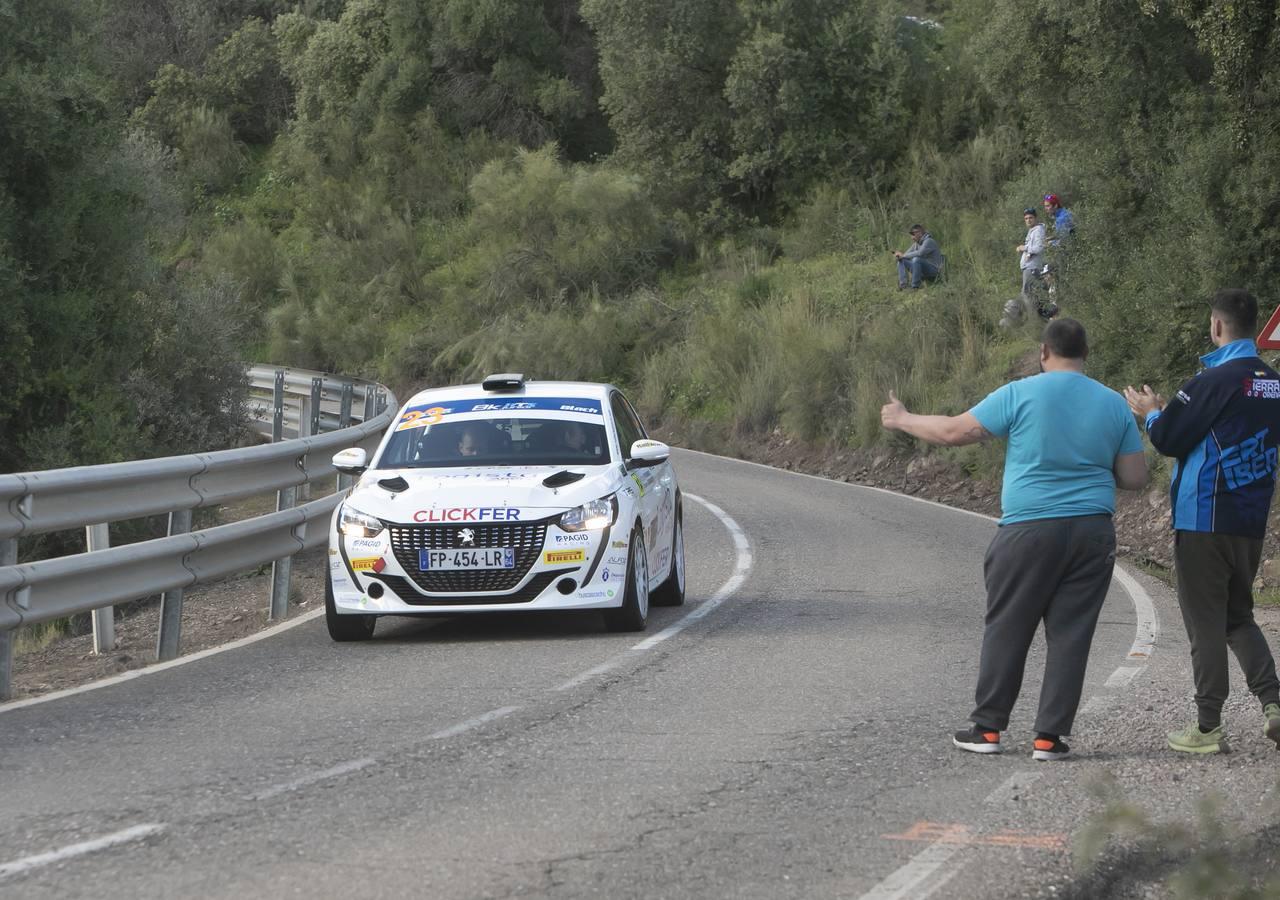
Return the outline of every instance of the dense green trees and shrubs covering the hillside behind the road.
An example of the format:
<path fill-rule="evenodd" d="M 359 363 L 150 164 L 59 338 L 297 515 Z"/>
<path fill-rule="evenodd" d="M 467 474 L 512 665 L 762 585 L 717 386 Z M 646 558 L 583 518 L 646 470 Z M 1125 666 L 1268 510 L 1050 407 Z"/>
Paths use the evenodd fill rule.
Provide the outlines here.
<path fill-rule="evenodd" d="M 0 0 L 0 470 L 236 439 L 242 360 L 611 379 L 847 446 L 957 411 L 1021 209 L 1093 374 L 1270 311 L 1276 4 Z M 924 221 L 948 278 L 899 293 Z"/>

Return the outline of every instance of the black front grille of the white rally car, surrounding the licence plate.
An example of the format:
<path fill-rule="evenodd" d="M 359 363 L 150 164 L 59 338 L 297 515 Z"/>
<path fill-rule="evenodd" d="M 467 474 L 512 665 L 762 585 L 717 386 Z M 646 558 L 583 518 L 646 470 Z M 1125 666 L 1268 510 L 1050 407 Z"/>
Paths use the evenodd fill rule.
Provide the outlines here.
<path fill-rule="evenodd" d="M 388 525 L 396 561 L 422 590 L 433 594 L 500 594 L 511 590 L 543 552 L 547 525 L 536 522 L 486 522 L 466 525 Z M 515 568 L 477 568 L 460 572 L 424 572 L 417 567 L 419 550 L 451 550 L 462 547 L 462 531 L 471 531 L 467 547 L 509 547 L 516 553 Z M 544 585 L 545 586 L 545 585 Z M 399 593 L 399 591 L 397 591 Z M 532 598 L 530 598 L 532 599 Z"/>

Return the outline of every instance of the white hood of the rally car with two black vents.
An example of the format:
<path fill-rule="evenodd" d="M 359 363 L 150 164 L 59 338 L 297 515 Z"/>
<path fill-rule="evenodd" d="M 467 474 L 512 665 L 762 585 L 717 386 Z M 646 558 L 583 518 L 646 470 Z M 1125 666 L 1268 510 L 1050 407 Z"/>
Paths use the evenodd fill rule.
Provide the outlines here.
<path fill-rule="evenodd" d="M 559 488 L 543 484 L 550 475 L 563 471 L 582 472 L 582 478 Z M 527 515 L 512 516 L 512 520 L 527 521 L 603 497 L 617 489 L 620 478 L 616 466 L 378 469 L 361 476 L 347 502 L 361 512 L 389 521 L 476 521 L 471 517 L 422 515 L 433 510 L 460 508 L 529 510 Z M 396 484 L 396 479 L 403 479 L 407 486 Z M 390 484 L 384 486 L 379 483 Z M 502 521 L 500 515 L 498 520 Z"/>

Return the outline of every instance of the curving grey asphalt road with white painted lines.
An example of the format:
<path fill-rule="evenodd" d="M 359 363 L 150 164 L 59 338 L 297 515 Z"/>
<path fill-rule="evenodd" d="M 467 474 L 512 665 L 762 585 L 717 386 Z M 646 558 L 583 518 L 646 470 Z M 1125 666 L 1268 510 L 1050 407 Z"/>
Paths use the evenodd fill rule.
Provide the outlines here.
<path fill-rule="evenodd" d="M 0 896 L 1050 896 L 1083 883 L 1068 846 L 1098 775 L 1178 808 L 1166 594 L 1134 657 L 1153 623 L 1112 584 L 1076 758 L 1030 760 L 1039 647 L 1010 751 L 960 753 L 993 524 L 676 462 L 727 517 L 686 502 L 689 603 L 646 635 L 525 615 L 338 645 L 316 620 L 0 712 Z M 1265 790 L 1268 746 L 1197 777 Z"/>

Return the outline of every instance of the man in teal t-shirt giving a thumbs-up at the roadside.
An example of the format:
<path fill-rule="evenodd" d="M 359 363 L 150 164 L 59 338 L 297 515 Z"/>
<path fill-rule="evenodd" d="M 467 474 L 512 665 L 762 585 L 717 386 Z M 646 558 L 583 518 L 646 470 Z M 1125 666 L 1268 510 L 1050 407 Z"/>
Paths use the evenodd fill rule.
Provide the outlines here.
<path fill-rule="evenodd" d="M 1084 687 L 1093 630 L 1111 584 L 1116 486 L 1147 483 L 1147 460 L 1129 405 L 1084 375 L 1084 326 L 1057 319 L 1044 329 L 1041 374 L 993 390 L 959 416 L 909 412 L 893 394 L 881 410 L 891 430 L 934 444 L 1007 438 L 1004 515 L 983 572 L 987 620 L 973 727 L 963 750 L 1000 753 L 1000 732 L 1023 684 L 1041 622 L 1048 641 L 1034 759 L 1062 759 Z"/>

